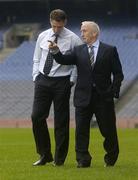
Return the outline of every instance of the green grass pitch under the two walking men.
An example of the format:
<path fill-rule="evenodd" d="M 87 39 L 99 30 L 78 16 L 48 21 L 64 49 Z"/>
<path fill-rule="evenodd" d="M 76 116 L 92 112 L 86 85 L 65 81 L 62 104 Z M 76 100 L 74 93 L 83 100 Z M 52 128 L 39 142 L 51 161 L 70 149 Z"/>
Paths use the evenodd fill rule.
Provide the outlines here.
<path fill-rule="evenodd" d="M 53 130 L 50 130 L 53 137 Z M 31 129 L 0 129 L 0 180 L 138 180 L 138 130 L 118 130 L 120 154 L 115 167 L 104 168 L 102 137 L 91 130 L 92 166 L 77 169 L 74 151 L 74 129 L 70 130 L 70 147 L 65 165 L 47 164 L 33 167 L 38 159 Z M 52 138 L 52 151 L 54 140 Z"/>

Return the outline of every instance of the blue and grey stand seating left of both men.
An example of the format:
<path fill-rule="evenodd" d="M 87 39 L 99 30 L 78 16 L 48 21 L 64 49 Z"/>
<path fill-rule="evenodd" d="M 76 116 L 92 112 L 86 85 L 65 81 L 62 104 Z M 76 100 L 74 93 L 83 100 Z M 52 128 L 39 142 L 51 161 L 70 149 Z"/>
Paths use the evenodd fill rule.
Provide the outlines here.
<path fill-rule="evenodd" d="M 33 95 L 32 56 L 35 42 L 24 42 L 0 64 L 0 118 L 28 119 Z"/>

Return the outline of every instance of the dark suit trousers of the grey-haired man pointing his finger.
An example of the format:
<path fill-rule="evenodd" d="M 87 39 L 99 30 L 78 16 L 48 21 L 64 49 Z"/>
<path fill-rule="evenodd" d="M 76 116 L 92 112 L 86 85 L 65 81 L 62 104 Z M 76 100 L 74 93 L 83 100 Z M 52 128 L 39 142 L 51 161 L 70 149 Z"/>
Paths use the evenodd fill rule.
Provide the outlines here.
<path fill-rule="evenodd" d="M 103 146 L 106 151 L 104 161 L 114 165 L 119 154 L 118 137 L 116 130 L 116 116 L 112 97 L 103 97 L 92 91 L 91 100 L 86 107 L 76 107 L 76 159 L 78 162 L 91 162 L 88 151 L 90 138 L 90 121 L 93 114 L 102 136 Z"/>

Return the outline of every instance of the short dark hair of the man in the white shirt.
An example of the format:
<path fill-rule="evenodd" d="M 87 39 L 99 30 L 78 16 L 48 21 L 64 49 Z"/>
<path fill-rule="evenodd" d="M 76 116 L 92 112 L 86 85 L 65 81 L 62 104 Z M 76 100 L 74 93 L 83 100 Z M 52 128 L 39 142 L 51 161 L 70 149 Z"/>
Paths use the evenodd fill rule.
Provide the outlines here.
<path fill-rule="evenodd" d="M 67 20 L 67 15 L 63 10 L 55 9 L 55 10 L 51 11 L 51 13 L 50 13 L 50 20 L 63 21 L 64 22 Z"/>

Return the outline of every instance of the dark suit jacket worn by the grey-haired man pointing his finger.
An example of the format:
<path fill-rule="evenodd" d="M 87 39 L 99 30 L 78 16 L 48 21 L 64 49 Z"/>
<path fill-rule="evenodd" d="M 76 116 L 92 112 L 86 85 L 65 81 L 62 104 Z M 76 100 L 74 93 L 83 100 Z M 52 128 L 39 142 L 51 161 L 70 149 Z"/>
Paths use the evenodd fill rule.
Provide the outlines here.
<path fill-rule="evenodd" d="M 123 72 L 116 47 L 100 42 L 96 62 L 92 69 L 86 44 L 77 46 L 73 52 L 53 55 L 55 60 L 64 65 L 77 66 L 77 83 L 74 93 L 74 105 L 85 107 L 92 95 L 92 85 L 96 85 L 101 97 L 119 97 Z"/>

